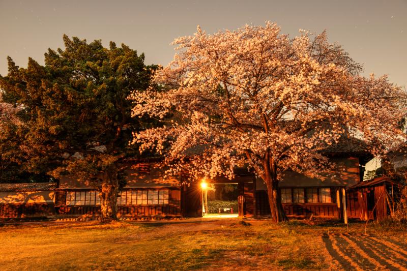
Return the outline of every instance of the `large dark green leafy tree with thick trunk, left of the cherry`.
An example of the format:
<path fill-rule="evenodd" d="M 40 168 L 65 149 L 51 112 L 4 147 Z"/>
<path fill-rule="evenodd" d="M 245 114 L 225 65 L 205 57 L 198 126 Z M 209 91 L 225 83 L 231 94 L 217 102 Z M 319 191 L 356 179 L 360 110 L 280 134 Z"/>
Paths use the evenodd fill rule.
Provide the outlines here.
<path fill-rule="evenodd" d="M 104 48 L 100 40 L 66 35 L 64 43 L 64 50 L 48 49 L 44 66 L 29 58 L 27 68 L 19 68 L 8 57 L 0 87 L 4 102 L 19 108 L 21 124 L 5 137 L 19 135 L 23 158 L 16 161 L 25 170 L 70 174 L 99 188 L 102 219 L 114 219 L 121 161 L 135 153 L 128 146 L 131 131 L 151 125 L 131 118 L 127 97 L 149 86 L 155 67 L 124 44 Z"/>

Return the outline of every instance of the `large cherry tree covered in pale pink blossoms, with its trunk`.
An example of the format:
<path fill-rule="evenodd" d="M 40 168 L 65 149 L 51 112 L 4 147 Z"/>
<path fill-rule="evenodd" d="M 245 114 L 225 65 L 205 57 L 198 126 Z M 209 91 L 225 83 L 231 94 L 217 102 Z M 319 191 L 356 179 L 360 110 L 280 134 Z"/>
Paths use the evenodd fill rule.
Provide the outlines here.
<path fill-rule="evenodd" d="M 137 101 L 133 116 L 163 125 L 134 133 L 132 143 L 155 149 L 168 173 L 187 171 L 191 180 L 233 178 L 248 165 L 267 185 L 273 222 L 286 219 L 284 171 L 323 179 L 334 165 L 321 151 L 352 133 L 373 154 L 404 140 L 397 122 L 405 93 L 386 76 L 360 76 L 361 66 L 325 32 L 291 39 L 274 23 L 214 35 L 198 26 L 173 44 L 179 53 L 155 73 L 156 87 L 129 97 Z"/>

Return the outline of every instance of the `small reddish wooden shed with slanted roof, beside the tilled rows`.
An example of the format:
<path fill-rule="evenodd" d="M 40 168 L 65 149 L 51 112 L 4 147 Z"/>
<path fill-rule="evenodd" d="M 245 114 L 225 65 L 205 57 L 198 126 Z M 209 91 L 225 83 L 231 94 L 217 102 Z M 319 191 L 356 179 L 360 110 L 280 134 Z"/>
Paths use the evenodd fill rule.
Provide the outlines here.
<path fill-rule="evenodd" d="M 348 217 L 383 220 L 394 213 L 394 200 L 401 184 L 387 176 L 361 182 L 346 189 Z"/>

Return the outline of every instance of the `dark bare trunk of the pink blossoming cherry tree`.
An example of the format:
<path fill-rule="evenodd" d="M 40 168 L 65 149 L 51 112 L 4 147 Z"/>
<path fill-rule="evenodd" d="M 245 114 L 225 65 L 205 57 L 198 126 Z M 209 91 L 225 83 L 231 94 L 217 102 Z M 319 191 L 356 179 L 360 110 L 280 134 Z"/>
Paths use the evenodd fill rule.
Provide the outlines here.
<path fill-rule="evenodd" d="M 286 221 L 287 217 L 285 216 L 284 209 L 281 204 L 277 177 L 273 177 L 271 174 L 265 174 L 265 183 L 267 185 L 267 194 L 270 203 L 271 220 L 274 223 Z"/>

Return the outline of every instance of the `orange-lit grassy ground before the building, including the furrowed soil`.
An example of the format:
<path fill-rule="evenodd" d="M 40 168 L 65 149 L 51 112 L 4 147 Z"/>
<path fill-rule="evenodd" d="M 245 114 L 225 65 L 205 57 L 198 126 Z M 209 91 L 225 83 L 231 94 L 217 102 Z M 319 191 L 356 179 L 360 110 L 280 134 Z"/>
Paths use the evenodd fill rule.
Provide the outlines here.
<path fill-rule="evenodd" d="M 0 269 L 390 269 L 407 268 L 406 228 L 373 224 L 188 219 L 54 222 L 0 227 Z"/>

